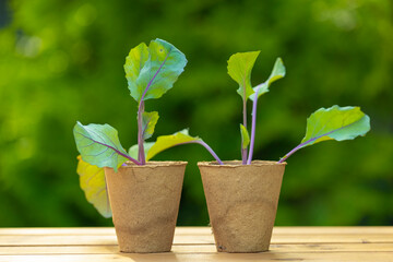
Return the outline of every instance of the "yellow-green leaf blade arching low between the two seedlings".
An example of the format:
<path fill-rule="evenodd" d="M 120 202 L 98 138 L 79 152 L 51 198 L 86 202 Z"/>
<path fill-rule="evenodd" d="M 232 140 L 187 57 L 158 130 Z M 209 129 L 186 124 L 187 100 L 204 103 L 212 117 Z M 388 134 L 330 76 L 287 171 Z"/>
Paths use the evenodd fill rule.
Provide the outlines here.
<path fill-rule="evenodd" d="M 189 135 L 188 129 L 183 129 L 177 133 L 174 134 L 169 134 L 169 135 L 160 135 L 157 138 L 157 141 L 155 142 L 155 144 L 150 148 L 148 153 L 147 153 L 147 158 L 152 159 L 153 156 L 155 156 L 156 154 L 172 147 L 175 145 L 181 144 L 181 143 L 187 143 L 187 142 L 191 142 L 191 141 L 198 141 L 201 140 L 198 136 L 191 136 Z"/>

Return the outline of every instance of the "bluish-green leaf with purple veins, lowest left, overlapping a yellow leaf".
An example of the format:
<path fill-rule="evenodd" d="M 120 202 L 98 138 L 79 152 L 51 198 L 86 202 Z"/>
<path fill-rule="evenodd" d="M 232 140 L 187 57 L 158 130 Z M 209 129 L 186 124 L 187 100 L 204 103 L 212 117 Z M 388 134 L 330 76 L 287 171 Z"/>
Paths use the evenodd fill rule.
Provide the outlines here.
<path fill-rule="evenodd" d="M 76 122 L 73 133 L 84 162 L 98 167 L 111 167 L 117 171 L 118 167 L 128 160 L 117 130 L 109 124 L 83 126 Z"/>

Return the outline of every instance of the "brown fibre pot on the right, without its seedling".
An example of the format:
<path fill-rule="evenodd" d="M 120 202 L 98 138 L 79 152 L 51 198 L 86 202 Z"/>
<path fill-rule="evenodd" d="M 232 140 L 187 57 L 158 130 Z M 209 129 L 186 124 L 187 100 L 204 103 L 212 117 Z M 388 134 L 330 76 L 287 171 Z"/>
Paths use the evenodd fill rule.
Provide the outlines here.
<path fill-rule="evenodd" d="M 198 163 L 217 251 L 267 251 L 286 163 Z"/>

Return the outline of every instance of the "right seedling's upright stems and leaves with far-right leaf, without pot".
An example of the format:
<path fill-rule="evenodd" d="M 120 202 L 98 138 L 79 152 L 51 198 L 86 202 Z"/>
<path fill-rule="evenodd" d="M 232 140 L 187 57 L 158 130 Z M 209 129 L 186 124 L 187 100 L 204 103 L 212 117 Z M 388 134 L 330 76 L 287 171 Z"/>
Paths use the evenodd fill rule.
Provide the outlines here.
<path fill-rule="evenodd" d="M 258 98 L 269 92 L 270 85 L 285 76 L 283 60 L 277 58 L 267 80 L 254 87 L 251 85 L 251 71 L 260 51 L 238 52 L 228 60 L 228 74 L 238 84 L 237 93 L 242 98 L 242 120 L 240 123 L 241 134 L 241 159 L 243 165 L 250 165 L 253 155 L 257 126 Z M 252 100 L 251 136 L 247 130 L 247 103 Z M 286 160 L 296 151 L 325 140 L 353 140 L 358 135 L 365 135 L 370 130 L 370 118 L 359 107 L 320 108 L 307 120 L 306 136 L 301 143 L 286 154 L 278 163 Z"/>

